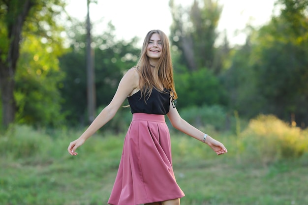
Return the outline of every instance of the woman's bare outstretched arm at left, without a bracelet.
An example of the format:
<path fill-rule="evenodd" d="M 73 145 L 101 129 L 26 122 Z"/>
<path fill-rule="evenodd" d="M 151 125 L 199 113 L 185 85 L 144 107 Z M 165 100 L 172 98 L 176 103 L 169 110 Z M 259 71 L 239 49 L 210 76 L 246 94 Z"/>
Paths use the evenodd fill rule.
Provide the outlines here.
<path fill-rule="evenodd" d="M 71 155 L 77 155 L 75 151 L 81 146 L 88 138 L 90 138 L 99 128 L 104 126 L 111 120 L 120 106 L 123 104 L 125 98 L 139 86 L 139 73 L 136 68 L 129 69 L 121 79 L 118 89 L 109 103 L 100 114 L 93 120 L 88 129 L 75 141 L 71 142 L 67 147 L 67 151 Z"/>

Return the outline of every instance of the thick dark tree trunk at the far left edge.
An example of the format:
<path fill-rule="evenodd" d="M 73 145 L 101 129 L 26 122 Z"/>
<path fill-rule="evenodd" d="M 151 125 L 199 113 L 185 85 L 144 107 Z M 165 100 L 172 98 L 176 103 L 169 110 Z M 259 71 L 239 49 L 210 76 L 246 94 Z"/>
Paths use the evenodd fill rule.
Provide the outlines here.
<path fill-rule="evenodd" d="M 23 5 L 20 5 L 23 4 Z M 6 128 L 15 119 L 16 102 L 14 99 L 14 76 L 16 64 L 19 58 L 21 33 L 27 15 L 33 6 L 32 0 L 21 0 L 18 4 L 7 4 L 7 41 L 9 47 L 7 53 L 0 50 L 0 86 L 2 100 L 2 124 Z M 16 10 L 18 12 L 16 12 Z"/>

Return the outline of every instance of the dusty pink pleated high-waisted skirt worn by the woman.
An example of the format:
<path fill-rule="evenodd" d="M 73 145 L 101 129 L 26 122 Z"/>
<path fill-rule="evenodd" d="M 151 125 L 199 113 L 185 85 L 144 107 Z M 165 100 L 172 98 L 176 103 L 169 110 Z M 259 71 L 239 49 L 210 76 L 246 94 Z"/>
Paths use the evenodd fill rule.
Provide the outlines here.
<path fill-rule="evenodd" d="M 184 197 L 176 182 L 164 115 L 133 114 L 110 205 L 142 205 Z"/>

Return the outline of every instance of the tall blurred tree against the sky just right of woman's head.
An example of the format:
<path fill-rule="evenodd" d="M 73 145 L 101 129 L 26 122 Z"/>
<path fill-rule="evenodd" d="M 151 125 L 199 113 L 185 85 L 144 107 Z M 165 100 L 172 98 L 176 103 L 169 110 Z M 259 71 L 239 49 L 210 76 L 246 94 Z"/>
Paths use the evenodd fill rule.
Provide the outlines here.
<path fill-rule="evenodd" d="M 181 63 L 194 71 L 204 67 L 215 70 L 216 28 L 222 7 L 214 0 L 194 0 L 190 10 L 169 1 L 173 25 L 172 44 L 182 51 Z"/>

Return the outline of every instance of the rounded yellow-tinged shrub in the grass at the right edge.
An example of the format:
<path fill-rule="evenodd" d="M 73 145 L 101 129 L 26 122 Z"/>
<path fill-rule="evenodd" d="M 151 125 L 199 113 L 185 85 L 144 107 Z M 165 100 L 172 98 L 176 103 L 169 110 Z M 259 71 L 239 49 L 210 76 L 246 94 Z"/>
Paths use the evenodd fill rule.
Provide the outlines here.
<path fill-rule="evenodd" d="M 259 159 L 267 164 L 302 156 L 308 147 L 307 133 L 307 130 L 291 127 L 275 116 L 260 115 L 250 120 L 240 140 L 249 159 Z"/>

